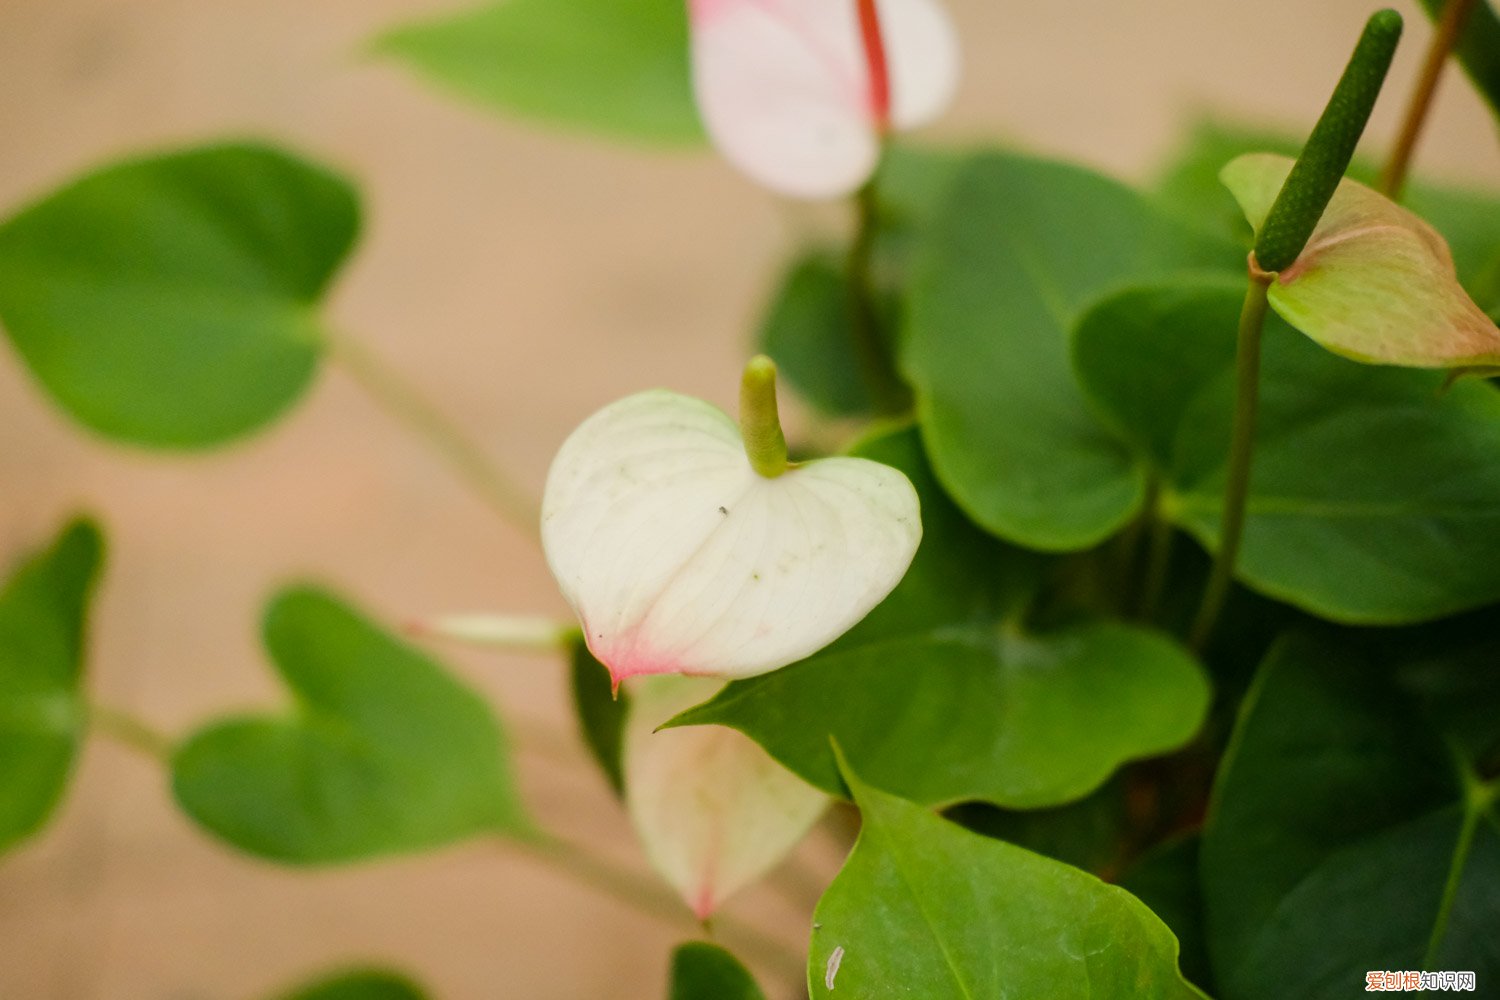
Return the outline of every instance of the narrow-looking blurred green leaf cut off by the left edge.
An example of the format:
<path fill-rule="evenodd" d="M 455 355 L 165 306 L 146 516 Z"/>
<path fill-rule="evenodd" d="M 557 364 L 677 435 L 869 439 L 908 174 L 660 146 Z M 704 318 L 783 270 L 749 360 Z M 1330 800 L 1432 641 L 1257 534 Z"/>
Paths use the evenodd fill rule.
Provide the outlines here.
<path fill-rule="evenodd" d="M 88 601 L 104 538 L 70 523 L 0 589 L 0 853 L 34 834 L 62 799 L 86 705 Z"/>

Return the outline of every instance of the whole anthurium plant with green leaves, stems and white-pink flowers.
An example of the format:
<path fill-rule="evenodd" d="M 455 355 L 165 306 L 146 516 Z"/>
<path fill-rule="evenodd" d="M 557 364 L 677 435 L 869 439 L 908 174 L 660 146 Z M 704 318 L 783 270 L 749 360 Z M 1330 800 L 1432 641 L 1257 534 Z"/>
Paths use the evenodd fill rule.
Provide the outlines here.
<path fill-rule="evenodd" d="M 288 586 L 261 619 L 286 705 L 168 736 L 90 691 L 108 510 L 76 517 L 0 589 L 0 850 L 45 835 L 100 736 L 266 862 L 498 838 L 638 898 L 528 810 L 502 712 L 440 660 L 465 640 L 570 678 L 648 901 L 702 922 L 662 957 L 674 1000 L 1500 996 L 1500 178 L 1407 178 L 1446 64 L 1500 115 L 1500 16 L 1420 7 L 1413 94 L 1372 10 L 1318 57 L 1317 123 L 1202 124 L 1144 187 L 908 136 L 962 73 L 942 0 L 394 27 L 376 52 L 501 112 L 849 207 L 747 331 L 736 414 L 633 387 L 578 414 L 542 496 L 324 321 L 366 211 L 338 172 L 210 144 L 6 207 L 14 363 L 84 429 L 218 448 L 344 366 L 537 541 L 576 619 L 402 634 Z M 1401 136 L 1356 157 L 1378 100 Z M 788 438 L 790 394 L 818 433 Z M 778 954 L 734 897 L 813 829 L 846 861 Z"/>

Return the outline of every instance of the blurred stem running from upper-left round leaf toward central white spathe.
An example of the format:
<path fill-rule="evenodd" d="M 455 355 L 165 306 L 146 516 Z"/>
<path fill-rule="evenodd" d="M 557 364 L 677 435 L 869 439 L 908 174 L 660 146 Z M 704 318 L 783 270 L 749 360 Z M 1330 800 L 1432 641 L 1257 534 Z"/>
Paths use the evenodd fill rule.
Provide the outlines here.
<path fill-rule="evenodd" d="M 398 421 L 424 438 L 448 465 L 501 517 L 532 541 L 542 537 L 537 504 L 514 480 L 494 465 L 478 445 L 450 423 L 394 369 L 351 337 L 330 337 L 332 354 L 344 370 Z"/>

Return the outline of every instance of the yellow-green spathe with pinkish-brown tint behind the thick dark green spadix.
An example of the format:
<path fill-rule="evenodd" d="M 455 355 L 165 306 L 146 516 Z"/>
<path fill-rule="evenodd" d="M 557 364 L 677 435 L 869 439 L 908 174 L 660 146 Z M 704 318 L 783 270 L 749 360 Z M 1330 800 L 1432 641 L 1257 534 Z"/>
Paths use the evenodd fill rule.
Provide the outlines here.
<path fill-rule="evenodd" d="M 1258 231 L 1292 160 L 1251 153 L 1220 178 Z M 1448 243 L 1384 195 L 1342 180 L 1270 306 L 1335 354 L 1406 367 L 1500 366 L 1500 328 L 1458 283 Z"/>

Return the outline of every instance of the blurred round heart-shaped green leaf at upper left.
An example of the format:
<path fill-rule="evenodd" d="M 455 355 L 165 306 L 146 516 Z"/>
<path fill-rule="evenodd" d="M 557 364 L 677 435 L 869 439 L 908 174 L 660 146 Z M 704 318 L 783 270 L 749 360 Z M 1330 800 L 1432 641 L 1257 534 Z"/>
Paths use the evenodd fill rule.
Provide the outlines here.
<path fill-rule="evenodd" d="M 268 147 L 118 163 L 0 225 L 0 321 L 93 430 L 222 444 L 308 388 L 357 229 L 345 180 Z"/>

